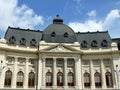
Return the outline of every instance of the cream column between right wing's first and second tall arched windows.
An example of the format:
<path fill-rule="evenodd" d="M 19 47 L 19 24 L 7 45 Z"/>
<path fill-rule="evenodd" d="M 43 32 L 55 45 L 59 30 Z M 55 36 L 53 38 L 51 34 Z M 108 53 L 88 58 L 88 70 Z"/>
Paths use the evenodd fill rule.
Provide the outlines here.
<path fill-rule="evenodd" d="M 94 81 L 94 68 L 93 68 L 93 62 L 90 59 L 90 76 L 91 76 L 91 89 L 95 89 L 95 81 Z"/>

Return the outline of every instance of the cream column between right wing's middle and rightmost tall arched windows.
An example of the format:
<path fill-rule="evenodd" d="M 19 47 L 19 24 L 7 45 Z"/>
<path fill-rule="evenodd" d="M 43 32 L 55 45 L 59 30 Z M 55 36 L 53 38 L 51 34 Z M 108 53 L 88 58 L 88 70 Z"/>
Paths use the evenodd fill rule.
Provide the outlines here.
<path fill-rule="evenodd" d="M 101 65 L 102 89 L 105 89 L 106 88 L 105 67 L 102 59 L 100 60 L 100 65 Z"/>

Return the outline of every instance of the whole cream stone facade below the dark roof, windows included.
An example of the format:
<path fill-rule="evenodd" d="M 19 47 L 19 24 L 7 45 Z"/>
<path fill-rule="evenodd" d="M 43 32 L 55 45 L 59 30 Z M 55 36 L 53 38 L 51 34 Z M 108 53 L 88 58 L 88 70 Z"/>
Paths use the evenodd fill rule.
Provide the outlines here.
<path fill-rule="evenodd" d="M 37 46 L 25 46 L 1 38 L 0 61 L 0 89 L 120 89 L 120 51 L 115 42 L 83 48 L 77 41 L 41 39 Z"/>

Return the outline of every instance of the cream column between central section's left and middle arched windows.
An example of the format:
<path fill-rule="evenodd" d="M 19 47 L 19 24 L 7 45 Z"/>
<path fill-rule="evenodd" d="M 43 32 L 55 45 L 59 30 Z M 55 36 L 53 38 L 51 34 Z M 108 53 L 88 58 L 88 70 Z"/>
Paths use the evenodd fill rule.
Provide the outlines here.
<path fill-rule="evenodd" d="M 53 58 L 53 88 L 57 88 L 56 58 Z"/>

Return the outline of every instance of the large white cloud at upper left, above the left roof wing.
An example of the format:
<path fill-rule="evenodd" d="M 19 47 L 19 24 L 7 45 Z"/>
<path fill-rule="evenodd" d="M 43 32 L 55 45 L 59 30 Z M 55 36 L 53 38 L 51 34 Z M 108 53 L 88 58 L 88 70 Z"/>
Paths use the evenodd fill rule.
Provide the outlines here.
<path fill-rule="evenodd" d="M 42 16 L 26 5 L 18 6 L 18 0 L 0 0 L 0 31 L 5 31 L 8 26 L 33 29 L 43 23 Z"/>

